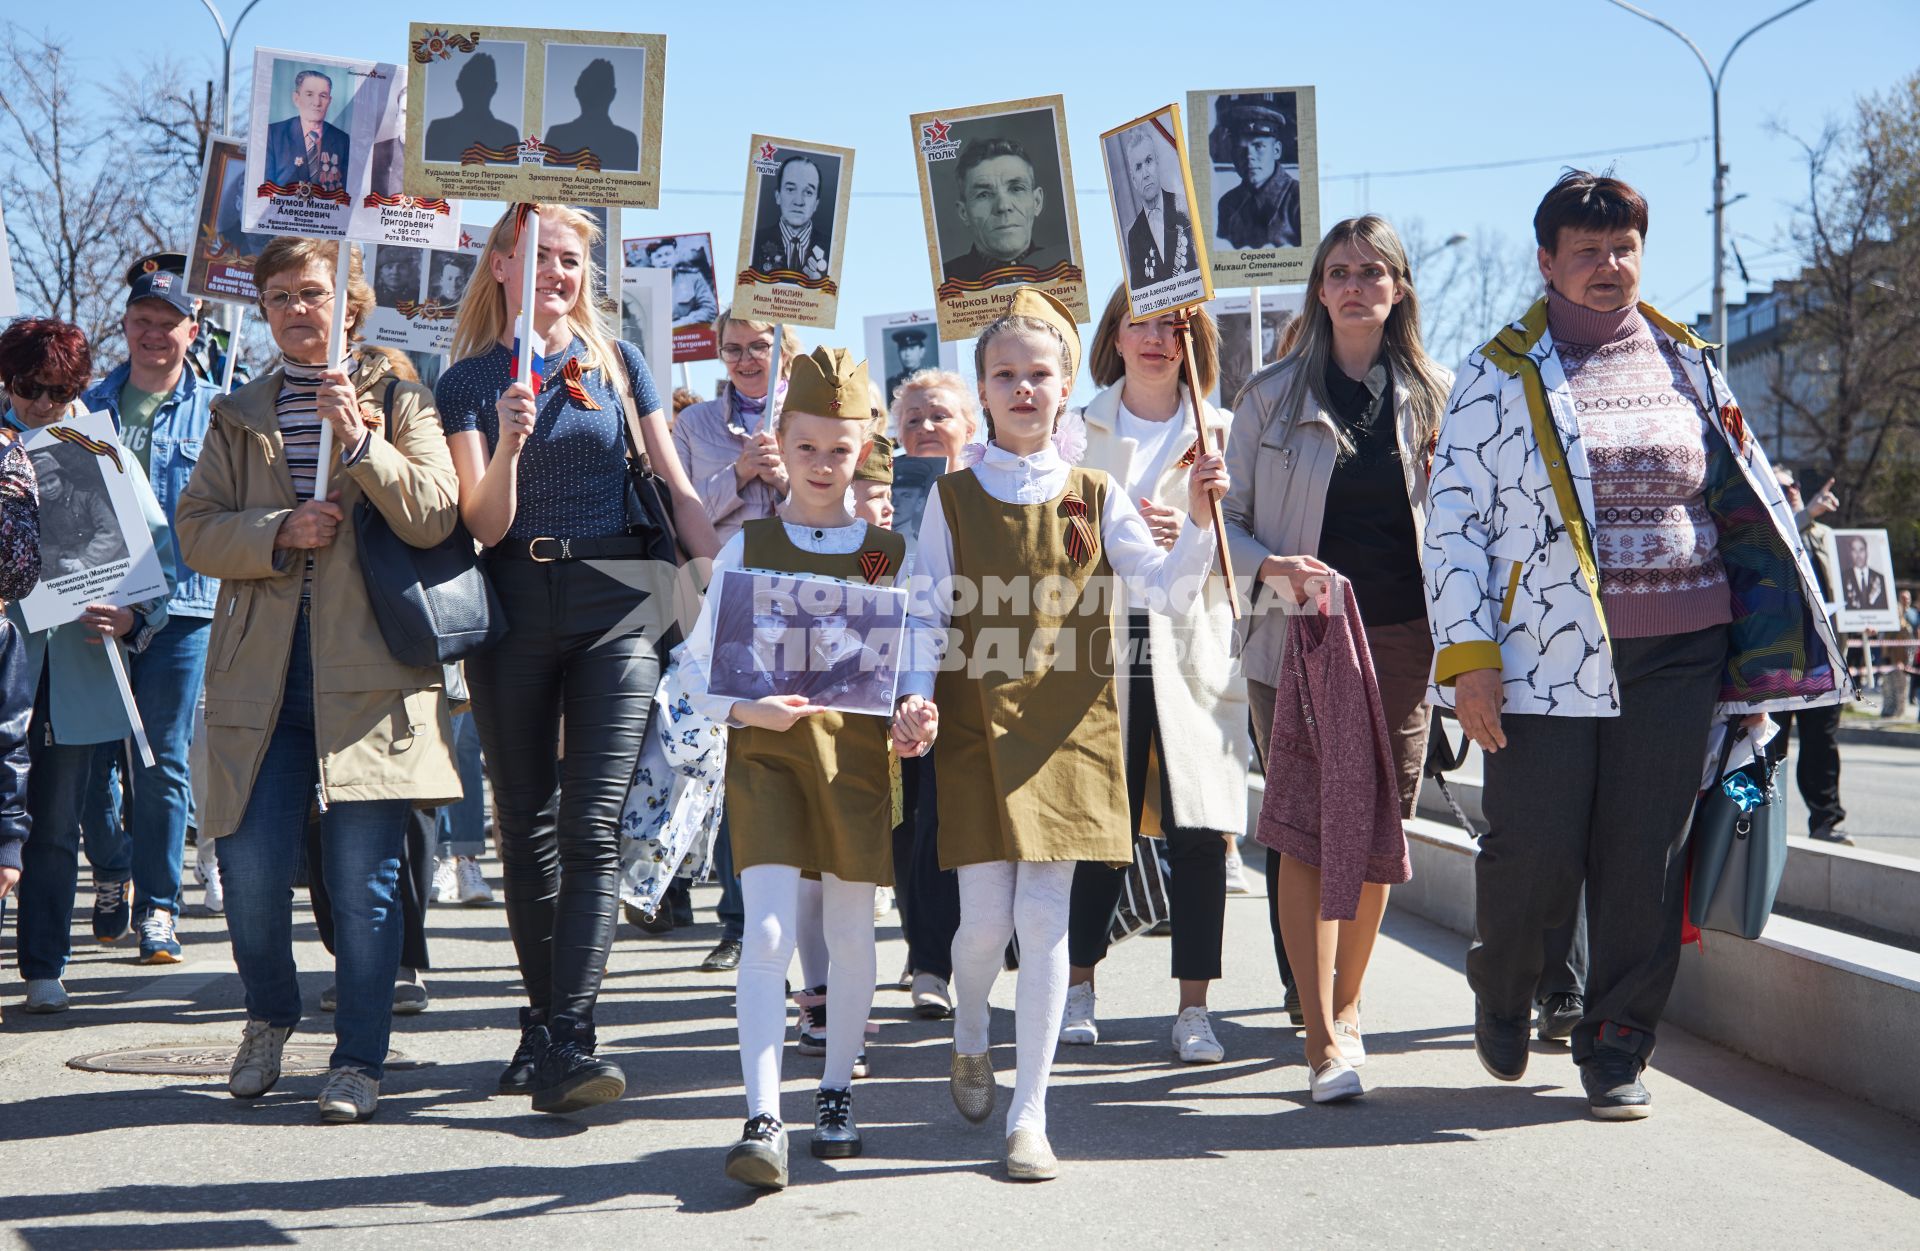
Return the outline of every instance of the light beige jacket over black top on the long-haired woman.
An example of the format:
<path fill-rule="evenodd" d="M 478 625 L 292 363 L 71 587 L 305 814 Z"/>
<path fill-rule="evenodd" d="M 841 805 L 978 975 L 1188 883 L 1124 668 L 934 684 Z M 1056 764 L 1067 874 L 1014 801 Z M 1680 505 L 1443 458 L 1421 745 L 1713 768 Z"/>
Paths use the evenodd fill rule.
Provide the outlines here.
<path fill-rule="evenodd" d="M 1317 556 L 1327 516 L 1327 482 L 1340 441 L 1331 413 L 1306 391 L 1298 413 L 1279 413 L 1292 382 L 1294 361 L 1279 361 L 1240 388 L 1227 443 L 1233 485 L 1221 503 L 1233 572 L 1260 578 L 1267 556 Z M 1413 508 L 1415 543 L 1427 530 L 1427 447 L 1419 445 L 1407 388 L 1394 378 L 1394 437 Z M 1240 668 L 1252 681 L 1281 685 L 1286 650 L 1286 612 L 1281 597 L 1258 585 L 1254 606 L 1240 622 Z"/>

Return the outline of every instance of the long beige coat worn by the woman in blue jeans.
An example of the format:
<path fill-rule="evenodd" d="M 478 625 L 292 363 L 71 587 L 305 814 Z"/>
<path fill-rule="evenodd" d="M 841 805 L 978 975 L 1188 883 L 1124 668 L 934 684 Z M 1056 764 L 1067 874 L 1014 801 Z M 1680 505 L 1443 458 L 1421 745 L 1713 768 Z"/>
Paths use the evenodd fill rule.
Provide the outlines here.
<path fill-rule="evenodd" d="M 246 812 L 267 743 L 280 718 L 286 662 L 300 614 L 305 553 L 275 551 L 282 518 L 296 507 L 280 445 L 269 370 L 213 401 L 200 468 L 175 512 L 180 555 L 221 579 L 207 643 L 207 779 L 200 831 L 230 835 Z M 361 359 L 361 405 L 378 414 L 390 361 Z M 346 520 L 315 553 L 313 687 L 319 785 L 328 804 L 413 800 L 440 806 L 461 798 L 453 729 L 440 670 L 394 660 L 374 624 L 361 578 L 353 507 L 372 499 L 394 533 L 428 547 L 453 531 L 459 485 L 434 395 L 394 382 L 392 430 L 374 434 L 359 462 L 338 470 Z"/>

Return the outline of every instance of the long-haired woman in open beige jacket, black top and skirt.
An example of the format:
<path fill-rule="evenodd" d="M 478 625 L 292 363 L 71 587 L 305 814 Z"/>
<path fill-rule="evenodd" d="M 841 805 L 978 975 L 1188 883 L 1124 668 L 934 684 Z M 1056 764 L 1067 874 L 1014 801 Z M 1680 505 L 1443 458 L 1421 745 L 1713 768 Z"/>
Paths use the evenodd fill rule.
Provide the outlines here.
<path fill-rule="evenodd" d="M 1233 566 L 1260 589 L 1242 666 L 1256 741 L 1267 756 L 1286 645 L 1281 604 L 1306 602 L 1338 572 L 1354 585 L 1392 739 L 1402 815 L 1413 815 L 1427 754 L 1432 641 L 1421 583 L 1427 451 L 1452 378 L 1421 347 L 1419 299 L 1400 236 L 1382 217 L 1352 217 L 1321 240 L 1306 307 L 1281 361 L 1235 401 L 1227 466 Z M 1365 716 L 1354 710 L 1354 716 Z M 1269 758 L 1271 760 L 1271 758 Z M 1286 779 L 1269 773 L 1269 787 Z M 1342 838 L 1332 821 L 1321 842 Z M 1267 892 L 1286 940 L 1308 1032 L 1313 1099 L 1363 1092 L 1359 990 L 1386 911 L 1369 881 L 1352 921 L 1321 919 L 1319 860 L 1267 850 Z"/>

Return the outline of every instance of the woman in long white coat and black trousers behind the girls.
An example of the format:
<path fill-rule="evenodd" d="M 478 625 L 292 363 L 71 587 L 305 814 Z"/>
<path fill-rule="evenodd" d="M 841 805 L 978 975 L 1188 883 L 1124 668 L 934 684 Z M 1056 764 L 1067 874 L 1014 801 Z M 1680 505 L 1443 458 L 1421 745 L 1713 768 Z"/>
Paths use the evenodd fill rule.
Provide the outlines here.
<path fill-rule="evenodd" d="M 1202 389 L 1219 372 L 1219 332 L 1194 313 L 1194 357 Z M 1106 389 L 1081 413 L 1087 453 L 1140 508 L 1154 539 L 1173 547 L 1187 522 L 1187 466 L 1194 453 L 1194 403 L 1212 447 L 1227 445 L 1233 414 L 1188 393 L 1173 319 L 1135 324 L 1127 290 L 1117 288 L 1094 330 L 1087 365 Z M 1125 589 L 1119 591 L 1125 595 Z M 1135 835 L 1160 810 L 1158 829 L 1173 881 L 1173 977 L 1181 982 L 1173 1053 L 1187 1063 L 1225 1059 L 1208 1017 L 1208 986 L 1219 977 L 1227 917 L 1227 838 L 1246 833 L 1246 683 L 1233 664 L 1233 608 L 1217 581 L 1190 612 L 1167 616 L 1135 604 L 1125 612 L 1127 656 L 1116 691 L 1127 739 L 1127 802 Z M 1156 779 L 1158 773 L 1158 779 Z M 1152 796 L 1148 796 L 1152 789 Z M 1081 862 L 1073 873 L 1068 925 L 1068 1009 L 1060 1042 L 1100 1038 L 1094 1019 L 1094 965 L 1106 957 L 1108 929 L 1125 869 Z"/>

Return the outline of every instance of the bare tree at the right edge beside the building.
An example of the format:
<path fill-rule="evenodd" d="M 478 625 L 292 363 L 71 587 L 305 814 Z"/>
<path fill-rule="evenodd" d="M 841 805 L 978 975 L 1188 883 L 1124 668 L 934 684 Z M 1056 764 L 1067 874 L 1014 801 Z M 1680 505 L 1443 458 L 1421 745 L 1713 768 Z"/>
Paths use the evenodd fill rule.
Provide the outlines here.
<path fill-rule="evenodd" d="M 1811 142 L 1793 224 L 1803 271 L 1768 389 L 1818 449 L 1845 524 L 1920 545 L 1920 73 Z M 1905 541 L 1903 541 L 1905 535 Z"/>

